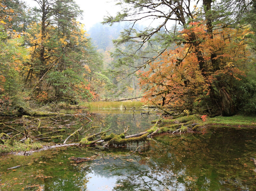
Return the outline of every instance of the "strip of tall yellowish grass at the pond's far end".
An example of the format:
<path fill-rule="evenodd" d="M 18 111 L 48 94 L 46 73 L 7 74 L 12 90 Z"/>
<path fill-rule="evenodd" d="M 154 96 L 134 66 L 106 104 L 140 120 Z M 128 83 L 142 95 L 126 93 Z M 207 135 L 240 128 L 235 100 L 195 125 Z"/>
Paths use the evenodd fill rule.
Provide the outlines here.
<path fill-rule="evenodd" d="M 93 109 L 113 109 L 113 108 L 141 108 L 143 105 L 140 101 L 99 101 L 90 102 L 88 104 L 89 108 Z"/>

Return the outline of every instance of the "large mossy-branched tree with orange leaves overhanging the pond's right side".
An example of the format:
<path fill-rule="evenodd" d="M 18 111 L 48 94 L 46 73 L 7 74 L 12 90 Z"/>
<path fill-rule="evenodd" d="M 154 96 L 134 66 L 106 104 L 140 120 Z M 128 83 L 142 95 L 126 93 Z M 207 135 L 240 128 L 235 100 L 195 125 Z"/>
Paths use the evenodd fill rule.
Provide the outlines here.
<path fill-rule="evenodd" d="M 207 109 L 203 110 L 209 114 L 219 111 L 223 115 L 230 116 L 236 112 L 233 96 L 234 77 L 228 74 L 233 70 L 238 72 L 239 64 L 233 64 L 235 63 L 233 61 L 237 62 L 238 55 L 240 56 L 238 56 L 239 59 L 241 57 L 243 57 L 241 59 L 246 59 L 247 56 L 245 53 L 246 45 L 243 45 L 245 41 L 241 41 L 241 44 L 236 43 L 238 38 L 246 38 L 247 33 L 250 33 L 250 30 L 248 31 L 246 27 L 238 26 L 238 24 L 251 2 L 226 1 L 217 3 L 205 0 L 200 4 L 190 0 L 162 0 L 120 1 L 120 4 L 125 4 L 123 12 L 120 12 L 116 17 L 105 18 L 105 22 L 131 22 L 131 27 L 124 31 L 121 38 L 116 41 L 116 45 L 130 43 L 136 44 L 138 48 L 128 53 L 121 52 L 123 56 L 127 58 L 137 55 L 143 59 L 145 58 L 145 54 L 143 54 L 145 44 L 151 45 L 153 41 L 161 43 L 161 49 L 157 51 L 157 56 L 148 57 L 146 62 L 133 65 L 134 71 L 144 68 L 148 64 L 152 66 L 142 76 L 142 84 L 147 86 L 147 100 L 150 100 L 151 95 L 157 97 L 157 99 L 151 99 L 152 103 L 191 111 L 195 110 L 196 107 L 193 105 L 196 102 L 202 104 L 204 101 L 203 105 Z M 152 20 L 151 26 L 155 27 L 147 27 L 143 31 L 136 30 L 134 27 L 136 23 L 150 19 Z M 173 29 L 170 28 L 172 24 L 174 24 Z M 234 30 L 236 26 L 241 28 L 236 37 L 234 31 L 231 33 L 225 31 L 225 28 Z M 244 35 L 242 35 L 243 30 L 245 31 Z M 220 41 L 220 34 L 223 35 L 223 42 Z M 217 46 L 213 42 L 222 44 Z M 223 59 L 225 58 L 223 55 L 227 54 L 225 51 L 234 51 L 234 44 L 239 45 L 241 49 L 237 49 L 238 52 L 229 60 Z M 244 50 L 244 54 L 241 54 L 241 50 Z M 159 56 L 163 60 L 160 59 L 152 63 Z M 162 65 L 165 67 L 161 67 Z M 185 65 L 188 68 L 184 68 Z M 151 78 L 152 76 L 154 78 Z M 173 79 L 174 77 L 175 79 Z M 174 91 L 173 88 L 178 92 Z M 171 91 L 175 96 L 169 95 Z M 182 92 L 189 97 L 185 99 Z M 195 97 L 198 98 L 194 99 Z M 173 99 L 176 98 L 179 101 L 175 103 Z M 177 107 L 177 103 L 181 107 Z M 219 109 L 216 110 L 216 108 Z"/>

